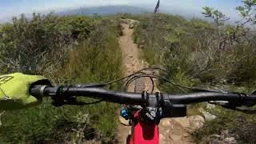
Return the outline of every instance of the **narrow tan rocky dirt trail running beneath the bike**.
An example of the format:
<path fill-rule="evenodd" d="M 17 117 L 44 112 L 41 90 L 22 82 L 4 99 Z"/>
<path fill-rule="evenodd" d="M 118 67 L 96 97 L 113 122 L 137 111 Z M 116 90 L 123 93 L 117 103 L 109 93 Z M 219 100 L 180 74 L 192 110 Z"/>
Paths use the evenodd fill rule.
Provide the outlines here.
<path fill-rule="evenodd" d="M 133 29 L 129 28 L 129 23 L 122 23 L 123 35 L 119 38 L 119 44 L 122 49 L 123 66 L 126 75 L 132 74 L 147 66 L 146 62 L 138 59 L 138 46 L 134 44 L 132 39 Z M 146 90 L 150 90 L 150 80 L 144 80 Z M 157 89 L 156 89 L 157 90 Z M 129 88 L 134 92 L 134 84 Z M 159 125 L 159 137 L 161 144 L 190 144 L 190 134 L 188 127 L 190 126 L 189 118 L 166 118 L 162 119 Z M 126 137 L 130 133 L 130 126 L 118 126 L 117 139 L 118 143 L 126 143 Z"/>

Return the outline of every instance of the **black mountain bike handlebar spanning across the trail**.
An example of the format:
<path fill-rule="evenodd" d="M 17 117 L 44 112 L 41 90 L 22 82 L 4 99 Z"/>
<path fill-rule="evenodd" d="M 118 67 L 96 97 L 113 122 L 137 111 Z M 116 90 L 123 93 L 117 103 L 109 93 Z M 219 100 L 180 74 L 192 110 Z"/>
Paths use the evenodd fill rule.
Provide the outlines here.
<path fill-rule="evenodd" d="M 30 89 L 30 94 L 34 96 L 50 96 L 53 99 L 67 100 L 71 97 L 83 96 L 88 98 L 98 98 L 107 102 L 116 102 L 126 105 L 159 106 L 166 102 L 171 104 L 190 104 L 194 102 L 227 101 L 230 106 L 254 106 L 256 95 L 246 95 L 241 93 L 222 92 L 201 92 L 194 94 L 147 94 L 118 92 L 94 87 L 78 86 L 34 86 Z"/>

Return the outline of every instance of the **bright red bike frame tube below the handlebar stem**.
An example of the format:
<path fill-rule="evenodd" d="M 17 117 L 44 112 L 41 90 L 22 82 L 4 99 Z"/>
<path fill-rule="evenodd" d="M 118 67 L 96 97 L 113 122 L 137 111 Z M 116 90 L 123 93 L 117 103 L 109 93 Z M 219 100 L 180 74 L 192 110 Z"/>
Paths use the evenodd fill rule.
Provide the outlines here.
<path fill-rule="evenodd" d="M 158 144 L 158 125 L 140 121 L 138 118 L 138 111 L 135 112 L 134 118 L 138 122 L 135 122 L 134 126 L 132 126 L 129 144 Z"/>

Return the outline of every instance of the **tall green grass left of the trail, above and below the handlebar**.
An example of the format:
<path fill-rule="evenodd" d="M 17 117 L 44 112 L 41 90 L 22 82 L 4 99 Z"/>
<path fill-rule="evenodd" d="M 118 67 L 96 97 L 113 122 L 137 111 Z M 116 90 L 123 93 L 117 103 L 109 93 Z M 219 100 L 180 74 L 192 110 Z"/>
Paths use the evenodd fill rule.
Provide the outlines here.
<path fill-rule="evenodd" d="M 83 29 L 81 29 L 82 35 L 78 38 L 78 45 L 70 47 L 62 66 L 50 74 L 47 72 L 44 74 L 50 76 L 52 78 L 50 80 L 57 85 L 108 82 L 122 77 L 118 22 L 100 17 L 89 20 L 86 18 L 87 21 L 82 17 L 67 17 L 67 19 L 65 22 L 68 25 L 73 22 L 74 25 L 90 26 L 90 29 L 81 26 Z M 88 33 L 87 30 L 90 32 Z M 120 84 L 113 84 L 107 88 L 118 90 L 119 86 Z M 79 98 L 79 100 L 95 102 L 91 98 Z M 50 98 L 44 98 L 40 106 L 7 111 L 2 115 L 0 139 L 7 143 L 78 142 L 81 137 L 82 141 L 91 139 L 103 143 L 113 141 L 118 105 L 100 102 L 87 106 L 54 107 L 50 102 Z M 83 126 L 86 126 L 86 129 L 79 132 Z"/>

